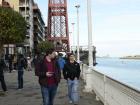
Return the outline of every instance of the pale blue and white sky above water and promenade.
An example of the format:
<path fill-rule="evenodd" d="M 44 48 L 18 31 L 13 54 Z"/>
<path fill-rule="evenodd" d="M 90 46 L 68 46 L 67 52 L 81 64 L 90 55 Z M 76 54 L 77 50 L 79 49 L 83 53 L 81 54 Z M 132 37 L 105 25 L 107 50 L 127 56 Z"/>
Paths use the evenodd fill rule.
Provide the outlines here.
<path fill-rule="evenodd" d="M 69 31 L 77 23 L 76 4 L 80 4 L 80 45 L 88 44 L 87 0 L 68 0 Z M 91 0 L 93 45 L 98 56 L 140 54 L 140 0 Z M 47 23 L 48 0 L 35 0 Z M 71 36 L 76 45 L 77 26 Z M 75 36 L 75 37 L 73 37 Z M 73 39 L 74 38 L 74 39 Z M 75 40 L 75 42 L 73 42 Z"/>

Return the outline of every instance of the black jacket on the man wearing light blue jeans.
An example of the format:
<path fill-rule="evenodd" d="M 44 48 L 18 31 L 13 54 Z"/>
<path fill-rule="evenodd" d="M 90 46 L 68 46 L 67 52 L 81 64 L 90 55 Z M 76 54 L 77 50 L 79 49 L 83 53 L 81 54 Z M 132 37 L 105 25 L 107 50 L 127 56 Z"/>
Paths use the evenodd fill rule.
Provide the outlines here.
<path fill-rule="evenodd" d="M 80 72 L 81 72 L 80 65 L 76 61 L 74 63 L 67 62 L 64 65 L 63 69 L 64 79 L 70 78 L 71 80 L 74 80 L 75 77 L 79 79 Z"/>

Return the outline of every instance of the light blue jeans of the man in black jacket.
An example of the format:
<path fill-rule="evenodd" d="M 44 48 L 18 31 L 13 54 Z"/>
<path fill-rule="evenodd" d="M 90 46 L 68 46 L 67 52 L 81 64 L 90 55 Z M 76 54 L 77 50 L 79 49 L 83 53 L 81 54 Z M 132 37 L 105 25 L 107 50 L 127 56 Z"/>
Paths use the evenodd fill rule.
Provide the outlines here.
<path fill-rule="evenodd" d="M 74 104 L 77 104 L 79 100 L 78 87 L 79 80 L 68 80 L 68 96 Z"/>

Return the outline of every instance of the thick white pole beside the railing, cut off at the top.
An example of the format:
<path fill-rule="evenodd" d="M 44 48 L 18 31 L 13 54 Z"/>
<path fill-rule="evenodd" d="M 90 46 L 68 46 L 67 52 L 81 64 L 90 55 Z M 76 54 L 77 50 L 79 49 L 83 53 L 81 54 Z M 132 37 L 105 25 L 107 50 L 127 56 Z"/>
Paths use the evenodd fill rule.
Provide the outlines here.
<path fill-rule="evenodd" d="M 89 67 L 93 67 L 91 0 L 87 0 Z"/>

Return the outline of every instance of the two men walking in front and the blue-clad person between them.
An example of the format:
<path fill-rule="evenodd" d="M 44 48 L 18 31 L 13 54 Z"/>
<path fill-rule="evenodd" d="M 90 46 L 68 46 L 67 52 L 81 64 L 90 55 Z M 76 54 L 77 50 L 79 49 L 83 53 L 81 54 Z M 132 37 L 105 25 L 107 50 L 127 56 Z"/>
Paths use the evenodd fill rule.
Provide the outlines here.
<path fill-rule="evenodd" d="M 60 83 L 61 74 L 67 81 L 69 103 L 78 105 L 78 86 L 80 65 L 75 61 L 74 54 L 69 54 L 68 60 L 62 58 L 62 54 L 56 58 L 55 51 L 49 49 L 43 59 L 36 58 L 35 74 L 39 78 L 43 105 L 54 105 L 54 98 Z"/>

